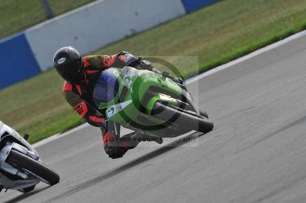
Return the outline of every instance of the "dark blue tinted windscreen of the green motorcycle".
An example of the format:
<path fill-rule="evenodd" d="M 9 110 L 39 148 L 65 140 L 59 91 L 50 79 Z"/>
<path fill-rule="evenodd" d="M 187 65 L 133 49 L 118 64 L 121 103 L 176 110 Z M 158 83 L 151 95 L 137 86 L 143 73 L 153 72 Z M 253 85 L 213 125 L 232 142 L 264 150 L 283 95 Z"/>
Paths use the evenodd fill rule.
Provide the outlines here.
<path fill-rule="evenodd" d="M 114 76 L 114 68 L 109 68 L 103 71 L 97 80 L 93 90 L 93 102 L 96 107 L 99 107 L 101 102 L 112 101 L 119 90 L 119 81 Z"/>

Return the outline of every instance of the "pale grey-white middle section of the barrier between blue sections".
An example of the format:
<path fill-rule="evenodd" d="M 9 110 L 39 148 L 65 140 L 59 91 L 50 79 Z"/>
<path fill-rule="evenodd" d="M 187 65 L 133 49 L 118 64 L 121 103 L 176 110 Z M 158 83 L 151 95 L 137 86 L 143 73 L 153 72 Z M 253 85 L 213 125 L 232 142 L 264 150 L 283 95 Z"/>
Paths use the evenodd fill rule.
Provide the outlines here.
<path fill-rule="evenodd" d="M 101 46 L 184 15 L 180 0 L 103 0 L 38 24 L 25 36 L 42 71 L 62 46 L 89 53 Z"/>

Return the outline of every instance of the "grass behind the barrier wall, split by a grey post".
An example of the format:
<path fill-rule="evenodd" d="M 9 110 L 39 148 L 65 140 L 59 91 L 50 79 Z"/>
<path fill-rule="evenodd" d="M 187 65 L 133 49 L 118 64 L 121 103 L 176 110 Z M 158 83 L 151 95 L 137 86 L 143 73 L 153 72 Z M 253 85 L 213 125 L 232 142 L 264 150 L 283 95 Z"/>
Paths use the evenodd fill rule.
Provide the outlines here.
<path fill-rule="evenodd" d="M 55 15 L 60 15 L 94 0 L 49 0 Z M 47 20 L 39 0 L 0 0 L 0 39 Z"/>

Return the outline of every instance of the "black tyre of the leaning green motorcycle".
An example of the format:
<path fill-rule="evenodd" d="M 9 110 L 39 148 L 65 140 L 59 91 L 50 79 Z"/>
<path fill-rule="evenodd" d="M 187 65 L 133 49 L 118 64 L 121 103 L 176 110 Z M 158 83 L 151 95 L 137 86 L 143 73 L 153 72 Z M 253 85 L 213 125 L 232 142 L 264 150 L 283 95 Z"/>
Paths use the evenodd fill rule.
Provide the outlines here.
<path fill-rule="evenodd" d="M 174 109 L 156 102 L 152 110 L 152 117 L 182 126 L 186 129 L 207 133 L 213 130 L 214 124 L 206 117 L 193 111 L 184 112 L 183 109 Z"/>

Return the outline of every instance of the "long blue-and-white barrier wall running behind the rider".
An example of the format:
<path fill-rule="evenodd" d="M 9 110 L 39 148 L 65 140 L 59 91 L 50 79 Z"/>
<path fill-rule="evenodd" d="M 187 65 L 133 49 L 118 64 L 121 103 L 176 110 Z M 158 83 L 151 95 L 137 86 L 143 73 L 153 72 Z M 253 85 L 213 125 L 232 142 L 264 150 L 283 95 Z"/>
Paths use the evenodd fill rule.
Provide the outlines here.
<path fill-rule="evenodd" d="M 78 48 L 81 53 L 88 53 L 101 46 L 122 39 L 125 36 L 129 36 L 135 32 L 141 32 L 167 20 L 184 15 L 186 12 L 193 12 L 217 1 L 129 0 L 129 2 L 125 2 L 124 0 L 100 0 L 40 23 L 24 31 L 24 33 L 0 40 L 0 60 L 2 62 L 0 67 L 0 89 L 52 67 L 53 54 L 61 46 L 72 45 Z M 137 7 L 134 5 L 137 5 Z M 122 11 L 118 12 L 118 8 L 121 8 Z M 101 12 L 103 9 L 105 11 Z M 120 14 L 116 14 L 117 18 L 113 17 L 113 11 L 115 9 Z M 126 9 L 130 13 L 126 13 Z M 91 11 L 90 15 L 89 11 Z M 107 13 L 110 14 L 107 15 Z M 103 18 L 99 17 L 101 14 L 104 15 Z M 75 16 L 77 15 L 81 20 L 85 21 L 85 23 L 81 23 L 83 30 L 80 30 L 81 20 L 75 20 Z M 107 18 L 107 16 L 109 17 Z M 88 19 L 90 17 L 95 19 L 95 21 Z M 138 23 L 126 23 L 127 20 Z M 93 25 L 88 22 L 93 23 Z M 98 25 L 103 27 L 108 22 L 110 22 L 108 24 L 109 32 L 105 32 L 103 29 L 98 29 L 95 32 L 87 32 L 92 27 L 99 27 Z M 68 30 L 56 28 L 56 26 L 66 27 L 67 25 L 69 27 Z M 114 25 L 115 27 L 111 27 L 110 25 Z M 121 29 L 115 33 L 112 32 L 118 25 L 120 25 L 119 27 Z M 76 31 L 74 32 L 73 29 Z M 84 31 L 85 34 L 83 33 Z M 96 36 L 88 35 L 92 33 L 96 34 Z M 56 38 L 57 36 L 59 38 Z M 94 37 L 97 37 L 97 39 Z M 41 43 L 44 44 L 42 45 Z"/>

